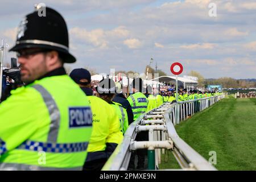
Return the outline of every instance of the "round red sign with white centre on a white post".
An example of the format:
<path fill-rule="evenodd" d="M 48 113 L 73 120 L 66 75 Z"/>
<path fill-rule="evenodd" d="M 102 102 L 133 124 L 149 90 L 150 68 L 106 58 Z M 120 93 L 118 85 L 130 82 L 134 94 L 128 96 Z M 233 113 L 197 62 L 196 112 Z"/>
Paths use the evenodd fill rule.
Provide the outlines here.
<path fill-rule="evenodd" d="M 176 72 L 174 70 L 174 67 L 175 66 L 178 66 L 180 68 L 180 70 L 178 72 Z M 180 63 L 173 63 L 171 65 L 171 68 L 170 68 L 172 74 L 176 75 L 176 102 L 179 101 L 179 98 L 178 98 L 178 80 L 177 80 L 177 76 L 180 75 L 182 72 L 183 72 L 183 66 L 180 64 Z M 180 107 L 179 107 L 179 104 L 176 105 L 176 123 L 179 124 L 179 121 L 180 121 L 180 118 L 179 118 L 179 115 L 180 115 Z"/>

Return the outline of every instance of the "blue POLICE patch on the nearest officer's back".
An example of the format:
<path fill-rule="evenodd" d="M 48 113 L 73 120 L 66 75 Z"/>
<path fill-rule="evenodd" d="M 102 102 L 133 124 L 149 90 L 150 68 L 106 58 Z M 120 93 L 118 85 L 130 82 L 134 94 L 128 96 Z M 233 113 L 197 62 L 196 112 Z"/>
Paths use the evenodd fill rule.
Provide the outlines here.
<path fill-rule="evenodd" d="M 69 128 L 92 126 L 90 107 L 69 107 Z"/>

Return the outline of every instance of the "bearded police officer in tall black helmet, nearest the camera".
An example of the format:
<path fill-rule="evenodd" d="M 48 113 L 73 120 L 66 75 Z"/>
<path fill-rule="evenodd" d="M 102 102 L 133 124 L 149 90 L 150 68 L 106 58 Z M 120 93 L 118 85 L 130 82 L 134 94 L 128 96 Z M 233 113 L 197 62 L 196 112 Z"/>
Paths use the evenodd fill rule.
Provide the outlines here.
<path fill-rule="evenodd" d="M 65 73 L 74 63 L 63 17 L 46 7 L 28 14 L 16 51 L 26 82 L 0 105 L 0 169 L 81 169 L 92 133 L 92 113 L 82 90 Z"/>

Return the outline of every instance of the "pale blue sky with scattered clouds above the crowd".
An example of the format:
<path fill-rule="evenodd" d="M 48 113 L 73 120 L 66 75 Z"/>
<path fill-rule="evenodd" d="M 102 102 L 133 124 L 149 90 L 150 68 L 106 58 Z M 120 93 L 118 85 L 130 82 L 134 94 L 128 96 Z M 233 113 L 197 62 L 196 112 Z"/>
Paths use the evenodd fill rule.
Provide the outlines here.
<path fill-rule="evenodd" d="M 35 3 L 59 11 L 69 29 L 72 68 L 144 72 L 155 66 L 170 73 L 179 61 L 205 78 L 256 78 L 255 0 L 0 0 L 0 38 L 13 46 L 16 27 Z M 210 3 L 217 16 L 210 17 Z M 10 59 L 14 54 L 7 53 Z"/>

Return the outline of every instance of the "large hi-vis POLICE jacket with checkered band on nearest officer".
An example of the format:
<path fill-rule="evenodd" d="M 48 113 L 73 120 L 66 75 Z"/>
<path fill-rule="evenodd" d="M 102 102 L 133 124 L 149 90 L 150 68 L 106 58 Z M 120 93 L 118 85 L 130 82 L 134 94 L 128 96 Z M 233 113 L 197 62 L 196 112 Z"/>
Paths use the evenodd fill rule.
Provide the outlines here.
<path fill-rule="evenodd" d="M 0 169 L 81 169 L 92 112 L 69 76 L 51 76 L 13 90 L 0 105 L 0 126 Z"/>

